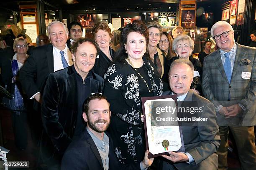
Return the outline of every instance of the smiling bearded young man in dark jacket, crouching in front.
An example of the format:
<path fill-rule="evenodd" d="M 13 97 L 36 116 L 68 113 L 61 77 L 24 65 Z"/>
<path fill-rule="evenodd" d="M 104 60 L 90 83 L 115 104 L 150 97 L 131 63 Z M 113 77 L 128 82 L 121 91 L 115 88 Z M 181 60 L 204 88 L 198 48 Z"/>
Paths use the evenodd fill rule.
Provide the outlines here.
<path fill-rule="evenodd" d="M 105 133 L 110 124 L 110 115 L 110 103 L 104 95 L 96 93 L 84 101 L 83 118 L 87 127 L 67 148 L 61 170 L 145 170 L 153 163 L 154 158 L 148 159 L 148 150 L 140 163 L 119 163 L 113 141 Z"/>

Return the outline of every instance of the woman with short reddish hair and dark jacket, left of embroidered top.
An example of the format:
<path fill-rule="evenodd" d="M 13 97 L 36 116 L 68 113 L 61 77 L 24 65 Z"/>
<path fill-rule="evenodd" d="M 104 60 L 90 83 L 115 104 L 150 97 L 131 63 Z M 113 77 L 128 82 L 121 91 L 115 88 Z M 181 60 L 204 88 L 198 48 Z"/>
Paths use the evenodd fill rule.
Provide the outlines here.
<path fill-rule="evenodd" d="M 92 28 L 92 34 L 100 48 L 92 71 L 103 77 L 114 59 L 114 50 L 109 46 L 112 36 L 111 30 L 106 23 L 97 23 Z"/>

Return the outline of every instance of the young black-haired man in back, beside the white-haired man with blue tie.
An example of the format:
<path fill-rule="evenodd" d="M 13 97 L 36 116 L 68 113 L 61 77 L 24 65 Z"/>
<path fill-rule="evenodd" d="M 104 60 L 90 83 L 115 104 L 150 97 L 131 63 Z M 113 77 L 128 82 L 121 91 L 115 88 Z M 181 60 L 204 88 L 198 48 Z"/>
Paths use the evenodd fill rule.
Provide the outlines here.
<path fill-rule="evenodd" d="M 80 23 L 73 21 L 68 26 L 69 29 L 69 40 L 67 40 L 67 46 L 69 50 L 71 49 L 72 44 L 79 38 L 82 37 L 83 28 Z"/>

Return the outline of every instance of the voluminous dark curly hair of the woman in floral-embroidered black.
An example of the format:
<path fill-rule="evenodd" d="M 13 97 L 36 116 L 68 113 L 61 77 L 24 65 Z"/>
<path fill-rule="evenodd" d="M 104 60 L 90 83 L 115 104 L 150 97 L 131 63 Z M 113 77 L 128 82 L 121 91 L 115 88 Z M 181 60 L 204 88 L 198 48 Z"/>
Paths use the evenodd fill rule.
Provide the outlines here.
<path fill-rule="evenodd" d="M 128 34 L 131 32 L 138 32 L 143 35 L 143 37 L 146 38 L 146 44 L 148 44 L 148 29 L 146 24 L 141 20 L 133 20 L 133 23 L 128 23 L 125 28 L 123 28 L 123 32 L 121 33 L 120 49 L 117 51 L 115 61 L 127 64 L 125 59 L 128 58 L 128 55 L 125 53 L 125 44 L 127 42 Z M 149 59 L 148 50 L 146 51 L 147 52 L 144 56 Z"/>

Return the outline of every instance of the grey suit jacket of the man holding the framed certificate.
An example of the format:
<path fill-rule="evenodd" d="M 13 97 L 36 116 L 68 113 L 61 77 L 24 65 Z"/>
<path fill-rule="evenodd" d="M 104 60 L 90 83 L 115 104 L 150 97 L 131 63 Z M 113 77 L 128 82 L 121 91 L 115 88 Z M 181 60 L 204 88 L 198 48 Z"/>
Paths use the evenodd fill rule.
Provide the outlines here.
<path fill-rule="evenodd" d="M 163 95 L 170 95 L 171 92 L 164 92 Z M 194 162 L 188 164 L 170 163 L 178 170 L 217 170 L 218 155 L 215 153 L 220 145 L 219 127 L 216 122 L 214 105 L 204 97 L 189 90 L 184 101 L 193 101 L 197 107 L 202 107 L 202 112 L 198 112 L 197 117 L 208 118 L 207 121 L 197 121 L 193 125 L 183 125 L 182 134 L 184 146 Z M 182 107 L 186 105 L 182 104 Z M 194 105 L 193 105 L 194 106 Z M 186 115 L 190 117 L 191 115 Z M 166 160 L 165 160 L 166 161 Z M 207 167 L 207 168 L 206 168 Z"/>

